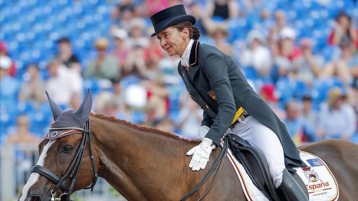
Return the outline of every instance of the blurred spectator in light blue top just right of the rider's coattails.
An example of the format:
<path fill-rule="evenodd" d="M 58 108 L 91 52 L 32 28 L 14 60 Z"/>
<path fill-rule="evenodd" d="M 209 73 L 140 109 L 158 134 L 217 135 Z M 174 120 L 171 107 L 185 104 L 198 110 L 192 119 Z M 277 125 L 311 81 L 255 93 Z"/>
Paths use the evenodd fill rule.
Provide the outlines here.
<path fill-rule="evenodd" d="M 300 111 L 295 101 L 289 101 L 285 105 L 287 130 L 294 142 L 301 143 L 303 134 L 303 122 L 300 118 Z"/>

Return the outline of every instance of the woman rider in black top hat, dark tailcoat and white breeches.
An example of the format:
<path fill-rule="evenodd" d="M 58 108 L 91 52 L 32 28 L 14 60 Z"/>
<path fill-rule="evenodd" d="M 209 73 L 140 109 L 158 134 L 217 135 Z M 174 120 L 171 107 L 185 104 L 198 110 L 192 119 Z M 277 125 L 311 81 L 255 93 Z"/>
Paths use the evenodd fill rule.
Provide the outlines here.
<path fill-rule="evenodd" d="M 180 56 L 178 73 L 190 97 L 203 108 L 198 146 L 189 168 L 204 169 L 209 156 L 226 133 L 234 133 L 263 151 L 274 186 L 286 200 L 308 200 L 287 167 L 304 167 L 284 124 L 253 91 L 234 60 L 214 46 L 200 44 L 195 18 L 184 5 L 175 5 L 150 17 L 161 48 L 170 57 Z M 238 187 L 239 188 L 239 187 Z"/>

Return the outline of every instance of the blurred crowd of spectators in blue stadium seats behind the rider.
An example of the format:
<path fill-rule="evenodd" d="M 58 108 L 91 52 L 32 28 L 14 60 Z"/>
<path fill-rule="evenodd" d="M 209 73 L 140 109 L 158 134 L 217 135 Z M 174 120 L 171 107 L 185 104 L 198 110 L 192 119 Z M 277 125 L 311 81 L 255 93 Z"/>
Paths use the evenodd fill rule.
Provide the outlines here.
<path fill-rule="evenodd" d="M 94 113 L 197 138 L 203 111 L 178 75 L 180 58 L 149 36 L 149 17 L 180 3 L 197 19 L 200 43 L 234 58 L 296 144 L 358 143 L 357 1 L 121 0 L 105 3 L 108 18 L 97 22 L 109 22 L 105 33 L 86 45 L 59 35 L 44 60 L 21 60 L 3 37 L 1 144 L 43 138 L 53 123 L 45 90 L 62 109 L 76 110 L 87 88 Z"/>

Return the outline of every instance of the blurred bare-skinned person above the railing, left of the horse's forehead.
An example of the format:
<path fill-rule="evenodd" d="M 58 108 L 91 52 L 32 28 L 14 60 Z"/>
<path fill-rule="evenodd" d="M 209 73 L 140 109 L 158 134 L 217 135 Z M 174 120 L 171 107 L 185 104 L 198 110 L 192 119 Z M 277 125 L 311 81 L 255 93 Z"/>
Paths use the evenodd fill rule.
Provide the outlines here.
<path fill-rule="evenodd" d="M 38 144 L 40 141 L 41 139 L 29 130 L 29 118 L 22 114 L 16 119 L 16 131 L 10 134 L 6 144 Z"/>

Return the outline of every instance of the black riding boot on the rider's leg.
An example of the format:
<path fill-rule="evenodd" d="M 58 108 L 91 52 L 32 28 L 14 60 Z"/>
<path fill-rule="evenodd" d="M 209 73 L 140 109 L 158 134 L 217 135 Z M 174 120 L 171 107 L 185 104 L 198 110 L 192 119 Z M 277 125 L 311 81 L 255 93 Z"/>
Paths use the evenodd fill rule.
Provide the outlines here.
<path fill-rule="evenodd" d="M 277 191 L 282 201 L 308 201 L 306 194 L 296 180 L 292 178 L 287 169 L 284 170 L 282 183 L 279 188 L 277 188 Z"/>

